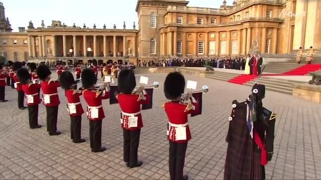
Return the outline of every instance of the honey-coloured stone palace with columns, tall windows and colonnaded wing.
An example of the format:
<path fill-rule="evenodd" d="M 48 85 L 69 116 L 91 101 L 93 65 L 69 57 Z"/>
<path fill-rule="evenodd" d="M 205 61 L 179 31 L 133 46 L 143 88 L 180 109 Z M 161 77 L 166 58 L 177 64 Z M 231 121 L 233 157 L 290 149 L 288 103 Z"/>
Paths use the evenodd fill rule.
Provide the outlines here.
<path fill-rule="evenodd" d="M 186 0 L 138 0 L 138 28 L 50 26 L 12 32 L 0 3 L 0 55 L 12 61 L 90 59 L 134 62 L 170 57 L 269 56 L 321 50 L 321 1 L 235 0 L 190 7 Z M 275 57 L 275 56 L 274 56 Z"/>

